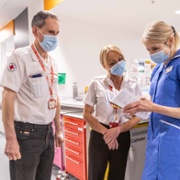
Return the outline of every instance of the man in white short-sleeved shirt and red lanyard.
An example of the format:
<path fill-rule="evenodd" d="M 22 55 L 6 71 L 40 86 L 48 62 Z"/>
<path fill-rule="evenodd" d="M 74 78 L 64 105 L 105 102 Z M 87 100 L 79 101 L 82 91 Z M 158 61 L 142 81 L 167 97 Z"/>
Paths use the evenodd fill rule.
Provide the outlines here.
<path fill-rule="evenodd" d="M 11 180 L 50 180 L 55 142 L 63 142 L 57 69 L 48 52 L 58 44 L 59 19 L 40 11 L 32 19 L 34 44 L 14 51 L 1 81 L 5 154 Z"/>

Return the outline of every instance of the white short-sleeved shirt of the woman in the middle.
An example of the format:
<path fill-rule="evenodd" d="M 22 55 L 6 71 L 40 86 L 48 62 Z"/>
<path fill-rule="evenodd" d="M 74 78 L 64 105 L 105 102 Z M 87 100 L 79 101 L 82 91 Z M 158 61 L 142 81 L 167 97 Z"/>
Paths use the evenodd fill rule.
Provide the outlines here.
<path fill-rule="evenodd" d="M 110 86 L 112 89 L 110 89 Z M 125 76 L 121 84 L 121 89 L 122 88 L 127 88 L 138 96 L 142 94 L 139 85 L 134 80 Z M 99 122 L 109 125 L 109 118 L 112 116 L 114 110 L 110 104 L 110 100 L 112 100 L 118 92 L 119 91 L 114 87 L 112 80 L 108 76 L 97 77 L 92 80 L 83 102 L 94 107 L 94 117 Z M 121 123 L 124 123 L 128 120 L 126 118 L 127 114 L 123 113 L 122 116 L 124 116 L 124 118 L 122 118 L 123 122 Z"/>

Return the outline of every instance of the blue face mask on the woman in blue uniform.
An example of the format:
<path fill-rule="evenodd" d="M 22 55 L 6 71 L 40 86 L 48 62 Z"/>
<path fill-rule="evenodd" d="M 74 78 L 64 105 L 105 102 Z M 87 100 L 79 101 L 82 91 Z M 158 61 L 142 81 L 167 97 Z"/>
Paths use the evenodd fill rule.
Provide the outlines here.
<path fill-rule="evenodd" d="M 167 61 L 169 59 L 169 56 L 170 56 L 170 53 L 165 54 L 164 50 L 161 50 L 159 52 L 156 52 L 156 53 L 150 55 L 151 59 L 156 64 L 160 64 L 160 63 Z"/>

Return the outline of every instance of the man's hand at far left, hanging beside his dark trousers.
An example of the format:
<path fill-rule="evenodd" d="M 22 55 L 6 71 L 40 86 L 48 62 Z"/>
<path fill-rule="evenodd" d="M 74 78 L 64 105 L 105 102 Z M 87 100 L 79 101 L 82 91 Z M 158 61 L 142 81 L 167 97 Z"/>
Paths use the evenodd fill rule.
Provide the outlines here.
<path fill-rule="evenodd" d="M 9 160 L 21 159 L 19 143 L 16 139 L 11 139 L 6 141 L 5 154 L 8 156 Z"/>

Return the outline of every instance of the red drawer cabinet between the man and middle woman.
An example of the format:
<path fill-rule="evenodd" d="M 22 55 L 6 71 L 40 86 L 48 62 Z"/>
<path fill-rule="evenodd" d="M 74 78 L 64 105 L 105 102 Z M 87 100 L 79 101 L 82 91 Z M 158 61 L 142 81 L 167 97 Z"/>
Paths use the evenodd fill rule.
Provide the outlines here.
<path fill-rule="evenodd" d="M 63 115 L 65 135 L 65 170 L 80 180 L 87 180 L 86 122 Z"/>

